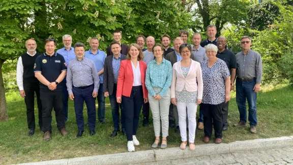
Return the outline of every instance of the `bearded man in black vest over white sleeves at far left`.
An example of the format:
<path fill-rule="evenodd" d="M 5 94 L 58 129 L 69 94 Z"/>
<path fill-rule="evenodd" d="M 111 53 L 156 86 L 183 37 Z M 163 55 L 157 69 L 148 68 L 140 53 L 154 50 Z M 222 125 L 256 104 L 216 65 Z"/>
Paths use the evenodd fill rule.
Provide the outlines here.
<path fill-rule="evenodd" d="M 42 130 L 42 103 L 40 99 L 39 80 L 35 77 L 34 64 L 40 53 L 36 51 L 37 43 L 33 39 L 25 41 L 26 53 L 19 57 L 16 67 L 16 81 L 19 93 L 26 105 L 28 135 L 35 133 L 35 92 L 39 109 L 39 127 Z"/>

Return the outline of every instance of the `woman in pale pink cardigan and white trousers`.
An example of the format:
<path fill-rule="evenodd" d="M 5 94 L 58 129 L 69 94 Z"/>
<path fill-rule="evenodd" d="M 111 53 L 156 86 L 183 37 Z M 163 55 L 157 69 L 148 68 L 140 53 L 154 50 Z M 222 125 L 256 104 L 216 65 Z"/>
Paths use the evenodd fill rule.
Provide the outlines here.
<path fill-rule="evenodd" d="M 194 150 L 196 108 L 197 105 L 201 103 L 203 89 L 201 68 L 198 62 L 190 59 L 191 46 L 189 44 L 182 44 L 179 47 L 179 52 L 182 60 L 173 65 L 171 102 L 172 104 L 177 105 L 178 109 L 179 127 L 182 140 L 180 148 L 186 148 L 186 116 L 188 116 L 189 148 L 190 150 Z"/>

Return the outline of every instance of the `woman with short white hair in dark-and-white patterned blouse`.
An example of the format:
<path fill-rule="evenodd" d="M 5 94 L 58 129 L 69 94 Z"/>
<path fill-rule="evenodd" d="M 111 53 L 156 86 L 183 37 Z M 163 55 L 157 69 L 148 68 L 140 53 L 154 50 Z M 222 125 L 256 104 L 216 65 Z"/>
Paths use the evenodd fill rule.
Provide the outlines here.
<path fill-rule="evenodd" d="M 222 142 L 223 103 L 230 100 L 230 72 L 226 63 L 216 58 L 218 48 L 209 44 L 206 48 L 208 60 L 201 63 L 203 95 L 200 108 L 203 113 L 204 143 L 209 143 L 215 130 L 215 143 Z"/>

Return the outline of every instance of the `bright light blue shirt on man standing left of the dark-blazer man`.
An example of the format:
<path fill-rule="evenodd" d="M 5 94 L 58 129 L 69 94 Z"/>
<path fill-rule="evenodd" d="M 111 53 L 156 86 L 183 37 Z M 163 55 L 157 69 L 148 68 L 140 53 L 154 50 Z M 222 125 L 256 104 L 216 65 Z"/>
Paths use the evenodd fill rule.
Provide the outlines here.
<path fill-rule="evenodd" d="M 84 52 L 84 57 L 91 59 L 95 62 L 96 68 L 97 68 L 97 72 L 101 71 L 104 68 L 104 64 L 105 64 L 105 59 L 106 59 L 106 53 L 102 50 L 97 51 L 96 54 L 92 53 L 92 50 L 89 49 L 87 51 Z M 101 74 L 99 75 L 100 78 L 100 84 L 103 84 L 103 75 Z"/>

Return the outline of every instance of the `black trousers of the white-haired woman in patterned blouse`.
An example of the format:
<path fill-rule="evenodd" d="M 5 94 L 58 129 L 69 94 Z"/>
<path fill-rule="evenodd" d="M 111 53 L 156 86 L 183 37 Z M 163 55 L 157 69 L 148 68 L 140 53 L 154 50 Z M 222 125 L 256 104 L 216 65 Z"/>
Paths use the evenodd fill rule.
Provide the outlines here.
<path fill-rule="evenodd" d="M 203 114 L 203 121 L 204 121 L 203 126 L 204 126 L 204 136 L 205 137 L 212 136 L 213 124 L 214 124 L 215 137 L 220 138 L 220 139 L 222 138 L 223 103 L 216 104 L 216 105 L 201 103 L 200 108 L 202 109 L 202 114 Z"/>

